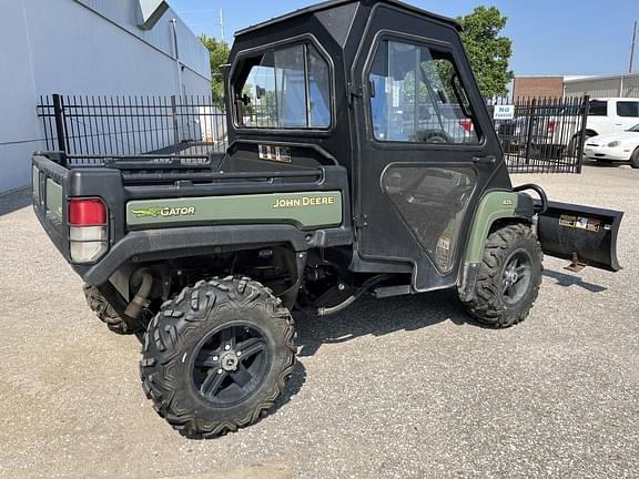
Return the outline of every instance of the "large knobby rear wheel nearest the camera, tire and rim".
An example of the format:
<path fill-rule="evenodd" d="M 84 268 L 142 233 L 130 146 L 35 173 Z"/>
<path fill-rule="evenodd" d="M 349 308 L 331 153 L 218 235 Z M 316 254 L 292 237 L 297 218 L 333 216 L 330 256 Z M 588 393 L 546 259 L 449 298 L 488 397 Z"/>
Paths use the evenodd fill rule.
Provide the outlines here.
<path fill-rule="evenodd" d="M 150 323 L 140 364 L 158 414 L 183 436 L 212 438 L 265 416 L 295 363 L 293 318 L 248 278 L 200 282 Z"/>

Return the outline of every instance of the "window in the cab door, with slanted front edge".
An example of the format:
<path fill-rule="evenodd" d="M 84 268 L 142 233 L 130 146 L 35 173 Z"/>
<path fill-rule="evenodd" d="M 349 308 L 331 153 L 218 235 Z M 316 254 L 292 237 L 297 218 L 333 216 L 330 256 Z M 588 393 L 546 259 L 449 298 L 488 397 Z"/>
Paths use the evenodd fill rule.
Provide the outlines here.
<path fill-rule="evenodd" d="M 375 140 L 453 144 L 479 141 L 450 53 L 383 41 L 368 80 Z"/>

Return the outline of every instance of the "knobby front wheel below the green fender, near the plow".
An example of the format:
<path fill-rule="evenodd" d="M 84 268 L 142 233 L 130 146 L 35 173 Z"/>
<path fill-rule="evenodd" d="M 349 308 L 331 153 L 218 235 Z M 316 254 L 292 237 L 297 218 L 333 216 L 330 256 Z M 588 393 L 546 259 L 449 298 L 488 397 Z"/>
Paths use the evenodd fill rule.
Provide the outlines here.
<path fill-rule="evenodd" d="M 488 236 L 473 299 L 465 302 L 479 323 L 506 328 L 528 316 L 541 284 L 544 254 L 528 225 L 516 224 Z"/>

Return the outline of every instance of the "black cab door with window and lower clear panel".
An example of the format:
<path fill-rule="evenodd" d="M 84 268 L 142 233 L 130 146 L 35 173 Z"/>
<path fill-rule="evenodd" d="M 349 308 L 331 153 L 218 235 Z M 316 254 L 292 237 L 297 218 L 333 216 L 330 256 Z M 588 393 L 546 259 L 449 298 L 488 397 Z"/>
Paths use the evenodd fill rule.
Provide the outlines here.
<path fill-rule="evenodd" d="M 419 292 L 457 283 L 475 206 L 488 186 L 510 187 L 456 32 L 429 30 L 437 40 L 382 31 L 355 65 L 357 253 L 412 264 Z"/>

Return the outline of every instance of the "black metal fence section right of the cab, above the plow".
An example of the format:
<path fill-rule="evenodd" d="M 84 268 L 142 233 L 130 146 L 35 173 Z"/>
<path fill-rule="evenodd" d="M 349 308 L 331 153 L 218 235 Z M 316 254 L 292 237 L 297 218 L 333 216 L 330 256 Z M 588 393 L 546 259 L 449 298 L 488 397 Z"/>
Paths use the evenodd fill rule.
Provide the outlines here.
<path fill-rule="evenodd" d="M 513 118 L 495 120 L 511 173 L 581 173 L 588 96 L 489 101 L 494 113 L 511 106 Z"/>

